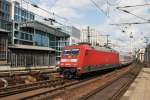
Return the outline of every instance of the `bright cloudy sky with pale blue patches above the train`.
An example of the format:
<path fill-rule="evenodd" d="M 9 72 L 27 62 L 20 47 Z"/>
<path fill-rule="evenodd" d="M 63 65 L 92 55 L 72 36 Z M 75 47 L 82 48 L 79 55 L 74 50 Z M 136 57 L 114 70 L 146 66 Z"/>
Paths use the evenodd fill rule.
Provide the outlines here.
<path fill-rule="evenodd" d="M 117 10 L 116 7 L 129 5 L 150 4 L 150 0 L 26 0 L 30 3 L 37 4 L 39 7 L 53 12 L 54 14 L 65 18 L 66 20 L 48 15 L 42 10 L 37 10 L 40 16 L 56 17 L 56 19 L 65 24 L 73 25 L 79 29 L 90 26 L 95 28 L 101 34 L 109 34 L 112 47 L 122 51 L 130 52 L 131 50 L 145 47 L 144 37 L 149 37 L 150 25 L 111 25 L 115 23 L 144 22 L 140 18 Z M 93 2 L 96 3 L 96 7 Z M 143 7 L 125 8 L 140 17 L 150 19 L 150 5 Z M 123 32 L 124 31 L 124 32 Z M 130 35 L 133 39 L 130 39 Z"/>

